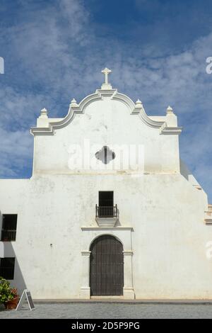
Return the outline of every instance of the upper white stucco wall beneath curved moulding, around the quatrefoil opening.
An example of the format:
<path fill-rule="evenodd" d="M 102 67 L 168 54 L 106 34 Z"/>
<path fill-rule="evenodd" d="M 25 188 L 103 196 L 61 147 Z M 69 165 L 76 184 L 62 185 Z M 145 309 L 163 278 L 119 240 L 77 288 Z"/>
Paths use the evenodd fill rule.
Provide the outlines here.
<path fill-rule="evenodd" d="M 172 118 L 175 120 L 174 114 Z M 70 147 L 80 145 L 83 149 L 85 141 L 94 149 L 90 152 L 93 162 L 95 152 L 103 145 L 137 145 L 143 147 L 146 172 L 179 172 L 177 135 L 159 135 L 158 128 L 147 126 L 138 114 L 130 114 L 124 103 L 103 98 L 88 104 L 83 114 L 76 114 L 69 125 L 54 135 L 35 136 L 33 173 L 85 174 L 84 166 L 69 169 Z M 114 152 L 117 153 L 115 148 Z M 119 163 L 118 157 L 114 163 Z"/>

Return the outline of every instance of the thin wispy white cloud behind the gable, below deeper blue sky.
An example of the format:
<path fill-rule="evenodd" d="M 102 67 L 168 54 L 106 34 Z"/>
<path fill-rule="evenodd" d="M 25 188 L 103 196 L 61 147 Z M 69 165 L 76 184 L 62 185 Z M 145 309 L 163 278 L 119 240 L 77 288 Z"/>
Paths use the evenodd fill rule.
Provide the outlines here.
<path fill-rule="evenodd" d="M 206 74 L 205 68 L 206 57 L 212 55 L 212 33 L 183 52 L 158 57 L 154 45 L 129 46 L 115 37 L 98 37 L 83 1 L 57 1 L 41 11 L 35 8 L 33 16 L 29 4 L 23 7 L 24 17 L 28 19 L 0 32 L 0 43 L 6 47 L 6 70 L 14 77 L 11 85 L 1 85 L 0 140 L 4 140 L 5 128 L 11 146 L 18 141 L 14 132 L 18 137 L 23 134 L 21 142 L 26 146 L 16 146 L 20 167 L 23 158 L 29 161 L 32 151 L 26 128 L 35 125 L 40 109 L 49 108 L 50 116 L 64 115 L 73 96 L 79 100 L 100 87 L 100 70 L 107 66 L 112 68 L 113 86 L 131 98 L 141 98 L 147 113 L 164 114 L 169 104 L 175 109 L 185 127 L 182 157 L 195 169 L 200 183 L 208 182 L 203 170 L 208 171 L 211 163 L 212 74 Z M 61 110 L 61 105 L 65 109 Z M 21 132 L 13 128 L 14 122 Z M 4 142 L 4 147 L 8 146 Z M 6 166 L 0 161 L 1 174 L 13 172 L 13 155 L 7 157 L 6 148 L 0 153 L 8 159 Z"/>

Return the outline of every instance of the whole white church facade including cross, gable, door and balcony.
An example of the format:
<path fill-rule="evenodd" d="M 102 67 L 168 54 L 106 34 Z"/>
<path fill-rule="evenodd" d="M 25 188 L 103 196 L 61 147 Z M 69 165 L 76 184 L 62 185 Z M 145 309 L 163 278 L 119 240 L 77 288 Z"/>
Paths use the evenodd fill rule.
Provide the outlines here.
<path fill-rule="evenodd" d="M 0 276 L 35 299 L 212 299 L 212 205 L 177 116 L 148 116 L 102 72 L 65 118 L 41 111 L 32 177 L 0 180 Z"/>

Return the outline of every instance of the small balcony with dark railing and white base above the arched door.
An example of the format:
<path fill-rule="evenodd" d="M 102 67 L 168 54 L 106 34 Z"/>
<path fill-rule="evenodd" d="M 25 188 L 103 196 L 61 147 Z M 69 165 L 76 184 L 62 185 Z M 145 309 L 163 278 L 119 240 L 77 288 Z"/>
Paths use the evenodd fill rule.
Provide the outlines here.
<path fill-rule="evenodd" d="M 99 227 L 114 227 L 118 220 L 117 205 L 98 206 L 95 205 L 95 220 Z"/>

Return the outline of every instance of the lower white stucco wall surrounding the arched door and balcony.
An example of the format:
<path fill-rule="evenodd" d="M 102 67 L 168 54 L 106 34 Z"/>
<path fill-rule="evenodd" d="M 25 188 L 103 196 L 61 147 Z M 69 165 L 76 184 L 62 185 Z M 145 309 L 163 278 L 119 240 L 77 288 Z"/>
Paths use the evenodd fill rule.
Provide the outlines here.
<path fill-rule="evenodd" d="M 12 283 L 20 289 L 25 284 L 34 298 L 78 298 L 81 251 L 89 250 L 90 239 L 128 237 L 115 227 L 81 230 L 97 226 L 100 190 L 114 190 L 120 225 L 133 228 L 136 298 L 212 298 L 207 199 L 183 176 L 40 176 L 0 181 L 0 188 L 6 188 L 0 194 L 1 213 L 18 213 L 16 242 L 4 242 L 5 256 L 15 254 L 18 261 Z"/>

